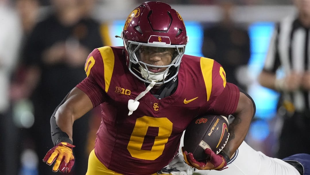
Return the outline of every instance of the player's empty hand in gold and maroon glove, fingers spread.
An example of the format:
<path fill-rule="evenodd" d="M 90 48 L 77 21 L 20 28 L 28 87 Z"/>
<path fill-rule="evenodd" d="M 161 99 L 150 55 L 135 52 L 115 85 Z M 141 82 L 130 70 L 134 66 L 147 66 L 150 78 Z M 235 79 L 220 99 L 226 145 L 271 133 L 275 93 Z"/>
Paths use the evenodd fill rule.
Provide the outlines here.
<path fill-rule="evenodd" d="M 53 166 L 53 172 L 59 170 L 62 173 L 69 173 L 74 164 L 74 156 L 72 152 L 72 148 L 74 147 L 74 145 L 67 142 L 60 142 L 47 152 L 43 158 L 43 162 L 51 165 L 56 160 Z"/>

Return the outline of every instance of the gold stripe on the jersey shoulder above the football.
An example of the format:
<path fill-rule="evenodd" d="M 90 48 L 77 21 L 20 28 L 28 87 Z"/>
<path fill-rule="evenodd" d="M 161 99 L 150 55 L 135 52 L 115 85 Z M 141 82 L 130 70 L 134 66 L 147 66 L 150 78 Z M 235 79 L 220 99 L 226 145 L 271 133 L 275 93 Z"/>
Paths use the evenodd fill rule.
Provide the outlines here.
<path fill-rule="evenodd" d="M 211 90 L 212 90 L 212 68 L 213 68 L 213 59 L 209 58 L 200 58 L 200 67 L 203 79 L 205 81 L 206 85 L 206 91 L 207 91 L 207 101 L 209 101 Z"/>

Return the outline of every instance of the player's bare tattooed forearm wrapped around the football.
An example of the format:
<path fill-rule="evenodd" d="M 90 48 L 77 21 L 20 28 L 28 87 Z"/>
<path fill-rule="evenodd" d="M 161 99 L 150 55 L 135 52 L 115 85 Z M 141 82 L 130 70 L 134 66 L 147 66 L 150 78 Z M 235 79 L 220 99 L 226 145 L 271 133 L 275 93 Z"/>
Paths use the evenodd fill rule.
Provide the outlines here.
<path fill-rule="evenodd" d="M 255 107 L 252 100 L 245 94 L 240 93 L 237 111 L 233 115 L 235 119 L 229 124 L 229 140 L 223 149 L 223 152 L 229 157 L 235 153 L 244 141 L 254 113 Z"/>

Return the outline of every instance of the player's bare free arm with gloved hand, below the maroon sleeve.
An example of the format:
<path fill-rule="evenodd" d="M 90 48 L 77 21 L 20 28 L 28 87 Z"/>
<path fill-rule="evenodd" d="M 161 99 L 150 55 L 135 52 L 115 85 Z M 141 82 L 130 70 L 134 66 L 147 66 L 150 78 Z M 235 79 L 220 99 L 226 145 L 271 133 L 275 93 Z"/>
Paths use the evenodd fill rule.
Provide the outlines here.
<path fill-rule="evenodd" d="M 47 152 L 43 161 L 51 165 L 53 171 L 69 173 L 73 164 L 72 130 L 73 122 L 93 108 L 90 98 L 77 87 L 73 88 L 55 109 L 51 117 L 51 135 L 55 146 Z"/>

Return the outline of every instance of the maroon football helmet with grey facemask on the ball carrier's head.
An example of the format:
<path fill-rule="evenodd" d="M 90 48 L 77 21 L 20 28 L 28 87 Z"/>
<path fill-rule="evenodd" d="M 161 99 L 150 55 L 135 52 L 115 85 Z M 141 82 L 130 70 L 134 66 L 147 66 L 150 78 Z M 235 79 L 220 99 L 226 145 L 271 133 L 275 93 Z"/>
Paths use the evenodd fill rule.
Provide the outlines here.
<path fill-rule="evenodd" d="M 188 37 L 182 17 L 163 2 L 144 2 L 127 17 L 122 31 L 129 70 L 157 85 L 177 76 Z"/>

